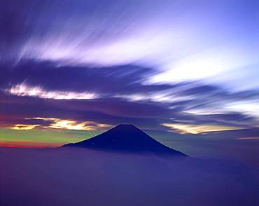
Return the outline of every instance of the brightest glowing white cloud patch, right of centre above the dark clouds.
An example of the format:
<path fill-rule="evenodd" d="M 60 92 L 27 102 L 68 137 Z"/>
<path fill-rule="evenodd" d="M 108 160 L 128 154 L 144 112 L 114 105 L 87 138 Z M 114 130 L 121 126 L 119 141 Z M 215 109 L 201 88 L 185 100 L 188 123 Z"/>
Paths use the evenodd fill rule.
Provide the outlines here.
<path fill-rule="evenodd" d="M 172 83 L 181 81 L 204 80 L 209 83 L 227 83 L 233 78 L 239 78 L 239 68 L 259 64 L 258 50 L 251 49 L 250 55 L 239 48 L 231 50 L 232 46 L 221 46 L 202 50 L 199 53 L 187 55 L 179 60 L 166 64 L 165 70 L 151 77 L 152 83 Z M 253 62 L 253 63 L 252 63 Z M 235 72 L 235 76 L 232 73 Z M 258 73 L 253 72 L 255 76 Z M 238 85 L 237 85 L 238 86 Z M 236 86 L 236 87 L 237 87 Z M 239 88 L 243 86 L 240 85 Z"/>

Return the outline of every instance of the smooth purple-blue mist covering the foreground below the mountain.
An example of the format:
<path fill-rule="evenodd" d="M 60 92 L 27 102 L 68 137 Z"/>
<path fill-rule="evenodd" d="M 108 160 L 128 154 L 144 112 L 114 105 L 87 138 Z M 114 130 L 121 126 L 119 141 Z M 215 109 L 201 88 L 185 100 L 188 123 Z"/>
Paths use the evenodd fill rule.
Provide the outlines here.
<path fill-rule="evenodd" d="M 2 149 L 0 205 L 258 205 L 258 168 L 90 149 Z M 257 170 L 255 170 L 257 169 Z"/>

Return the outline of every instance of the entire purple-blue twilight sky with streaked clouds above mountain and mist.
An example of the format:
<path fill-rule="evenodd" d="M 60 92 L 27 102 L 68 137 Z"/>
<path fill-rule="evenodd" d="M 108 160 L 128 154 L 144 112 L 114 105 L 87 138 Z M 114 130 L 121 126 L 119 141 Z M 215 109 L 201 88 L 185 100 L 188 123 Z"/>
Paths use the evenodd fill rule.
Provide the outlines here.
<path fill-rule="evenodd" d="M 120 123 L 259 165 L 259 1 L 0 3 L 0 146 Z"/>

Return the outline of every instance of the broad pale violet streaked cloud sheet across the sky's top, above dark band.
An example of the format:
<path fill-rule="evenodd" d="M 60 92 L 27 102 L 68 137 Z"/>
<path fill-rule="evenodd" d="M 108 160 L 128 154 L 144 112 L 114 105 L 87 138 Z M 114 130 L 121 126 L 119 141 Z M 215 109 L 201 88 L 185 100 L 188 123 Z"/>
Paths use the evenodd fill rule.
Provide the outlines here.
<path fill-rule="evenodd" d="M 159 74 L 151 80 L 169 83 L 207 78 L 229 85 L 238 76 L 247 86 L 258 77 L 257 1 L 15 3 L 1 6 L 2 61 L 103 67 L 136 62 L 155 66 Z"/>

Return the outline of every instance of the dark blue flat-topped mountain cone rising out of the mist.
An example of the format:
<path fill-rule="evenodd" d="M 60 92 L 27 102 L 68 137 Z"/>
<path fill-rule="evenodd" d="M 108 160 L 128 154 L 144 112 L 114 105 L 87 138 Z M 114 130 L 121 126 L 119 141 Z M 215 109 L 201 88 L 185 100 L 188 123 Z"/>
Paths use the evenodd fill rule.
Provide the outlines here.
<path fill-rule="evenodd" d="M 186 156 L 146 135 L 134 125 L 117 125 L 101 135 L 82 142 L 64 144 L 64 147 L 81 147 L 123 153 L 153 153 L 163 156 Z"/>

